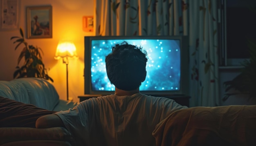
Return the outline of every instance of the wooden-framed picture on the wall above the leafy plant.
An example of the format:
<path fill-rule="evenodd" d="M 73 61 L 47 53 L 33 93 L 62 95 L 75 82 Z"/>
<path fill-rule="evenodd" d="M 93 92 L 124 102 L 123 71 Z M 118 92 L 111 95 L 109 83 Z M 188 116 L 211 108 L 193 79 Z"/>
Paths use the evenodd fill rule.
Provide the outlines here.
<path fill-rule="evenodd" d="M 27 38 L 52 38 L 52 6 L 27 7 Z"/>

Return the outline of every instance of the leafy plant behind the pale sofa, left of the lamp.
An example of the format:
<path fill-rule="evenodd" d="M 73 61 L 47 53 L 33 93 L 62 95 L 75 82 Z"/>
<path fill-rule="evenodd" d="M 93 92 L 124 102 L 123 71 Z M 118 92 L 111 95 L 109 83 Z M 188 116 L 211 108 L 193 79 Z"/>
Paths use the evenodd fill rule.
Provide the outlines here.
<path fill-rule="evenodd" d="M 47 69 L 45 69 L 45 65 L 42 61 L 43 54 L 42 49 L 37 46 L 28 45 L 24 39 L 24 33 L 22 28 L 20 28 L 21 37 L 14 36 L 11 37 L 11 40 L 16 39 L 13 44 L 18 43 L 15 47 L 15 50 L 21 45 L 24 44 L 24 48 L 20 52 L 20 56 L 18 58 L 18 66 L 16 67 L 16 71 L 13 73 L 13 78 L 20 77 L 39 77 L 45 80 L 52 80 L 51 77 L 47 74 Z M 20 67 L 20 61 L 24 58 L 25 62 Z"/>

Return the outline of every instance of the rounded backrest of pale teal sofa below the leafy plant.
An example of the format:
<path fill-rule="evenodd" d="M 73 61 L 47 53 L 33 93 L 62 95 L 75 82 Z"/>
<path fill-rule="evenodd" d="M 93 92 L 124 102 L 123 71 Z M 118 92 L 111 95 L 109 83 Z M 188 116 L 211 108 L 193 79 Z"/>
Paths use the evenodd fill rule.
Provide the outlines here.
<path fill-rule="evenodd" d="M 59 102 L 59 95 L 53 84 L 34 77 L 0 81 L 0 96 L 50 111 Z"/>

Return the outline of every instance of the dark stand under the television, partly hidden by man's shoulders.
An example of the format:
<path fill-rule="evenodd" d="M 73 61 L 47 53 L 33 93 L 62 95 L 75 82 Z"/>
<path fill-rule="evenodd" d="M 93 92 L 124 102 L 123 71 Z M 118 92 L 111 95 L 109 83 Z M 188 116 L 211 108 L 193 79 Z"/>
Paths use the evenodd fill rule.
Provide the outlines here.
<path fill-rule="evenodd" d="M 80 102 L 82 102 L 83 100 L 88 100 L 92 97 L 99 97 L 99 96 L 104 96 L 104 95 L 85 94 L 85 95 L 78 96 L 78 98 L 79 98 Z M 189 107 L 189 98 L 190 98 L 190 96 L 186 96 L 186 95 L 151 95 L 151 96 L 166 97 L 166 98 L 169 98 L 169 99 L 173 99 L 178 104 Z"/>

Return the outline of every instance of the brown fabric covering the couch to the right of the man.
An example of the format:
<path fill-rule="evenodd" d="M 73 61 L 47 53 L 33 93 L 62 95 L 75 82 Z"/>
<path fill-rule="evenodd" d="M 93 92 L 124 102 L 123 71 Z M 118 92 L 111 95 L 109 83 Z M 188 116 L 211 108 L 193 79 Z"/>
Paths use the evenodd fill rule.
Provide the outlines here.
<path fill-rule="evenodd" d="M 157 124 L 157 146 L 255 146 L 256 105 L 191 107 Z"/>

